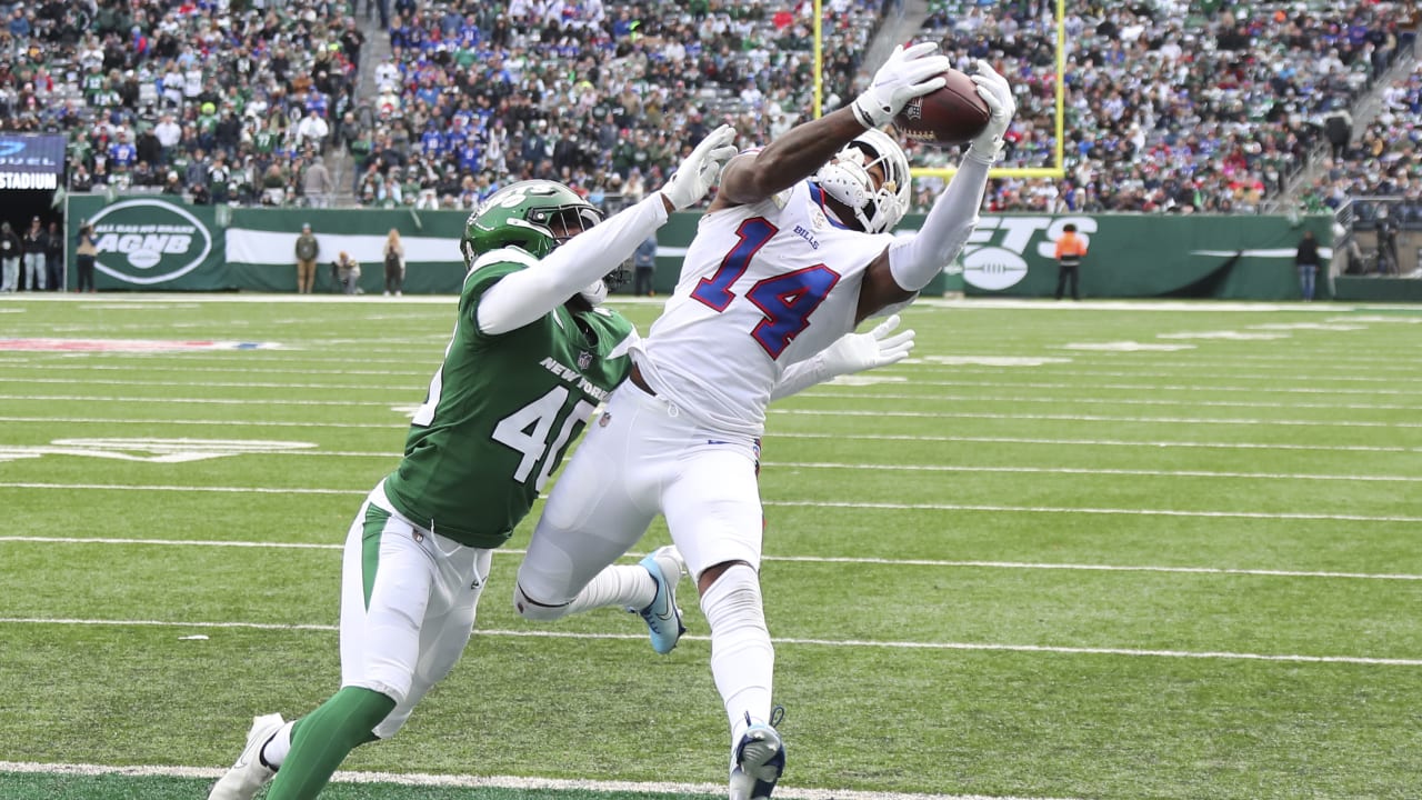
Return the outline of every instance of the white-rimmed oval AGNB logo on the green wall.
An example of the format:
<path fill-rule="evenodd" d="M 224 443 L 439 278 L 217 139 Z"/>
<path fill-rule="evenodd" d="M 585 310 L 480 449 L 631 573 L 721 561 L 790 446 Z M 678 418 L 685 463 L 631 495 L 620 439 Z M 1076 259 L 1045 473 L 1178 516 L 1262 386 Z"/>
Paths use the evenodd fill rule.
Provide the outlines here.
<path fill-rule="evenodd" d="M 152 285 L 181 278 L 212 252 L 212 233 L 188 209 L 158 201 L 132 199 L 100 211 L 95 266 L 127 283 Z"/>

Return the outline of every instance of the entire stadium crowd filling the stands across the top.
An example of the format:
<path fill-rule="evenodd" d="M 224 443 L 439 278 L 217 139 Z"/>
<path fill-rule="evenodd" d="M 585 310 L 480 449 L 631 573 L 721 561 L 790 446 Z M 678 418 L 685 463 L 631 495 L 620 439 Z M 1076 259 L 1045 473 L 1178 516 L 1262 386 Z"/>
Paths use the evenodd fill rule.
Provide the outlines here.
<path fill-rule="evenodd" d="M 501 185 L 565 181 L 616 206 L 729 121 L 769 141 L 813 110 L 803 0 L 90 0 L 16 3 L 0 27 L 0 127 L 71 137 L 71 186 L 145 185 L 198 202 L 472 208 Z M 0 4 L 3 6 L 3 4 Z M 863 88 L 884 0 L 825 3 L 823 108 Z M 921 37 L 988 58 L 1018 93 L 1004 167 L 1055 162 L 1055 3 L 936 0 Z M 357 13 L 390 57 L 357 87 Z M 1418 196 L 1422 74 L 1349 110 L 1399 54 L 1406 3 L 1069 3 L 1062 179 L 1000 178 L 1001 211 L 1254 212 L 1325 147 L 1310 208 Z M 383 48 L 384 50 L 384 48 Z M 220 58 L 218 56 L 222 56 Z M 356 165 L 331 185 L 323 155 Z M 954 155 L 910 148 L 916 165 Z M 919 204 L 940 178 L 920 178 Z"/>

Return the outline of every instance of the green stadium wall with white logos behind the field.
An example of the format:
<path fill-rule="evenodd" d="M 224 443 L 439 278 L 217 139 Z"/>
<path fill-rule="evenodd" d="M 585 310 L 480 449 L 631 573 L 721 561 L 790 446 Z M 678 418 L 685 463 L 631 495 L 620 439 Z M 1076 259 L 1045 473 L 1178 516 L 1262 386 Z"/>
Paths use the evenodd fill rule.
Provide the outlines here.
<path fill-rule="evenodd" d="M 405 246 L 405 292 L 455 293 L 464 280 L 458 241 L 468 218 L 456 211 L 269 209 L 193 206 L 162 196 L 67 198 L 71 236 L 91 221 L 100 245 L 95 283 L 105 290 L 294 292 L 296 236 L 310 223 L 321 243 L 320 265 L 347 251 L 363 265 L 360 286 L 378 293 L 381 252 L 390 229 Z M 656 290 L 670 293 L 698 214 L 677 214 L 658 232 Z M 923 216 L 909 216 L 912 231 Z M 1081 269 L 1091 298 L 1298 298 L 1294 252 L 1313 229 L 1327 263 L 1332 233 L 1325 215 L 984 215 L 964 256 L 926 290 L 970 296 L 1051 296 L 1057 288 L 1052 248 L 1075 223 L 1089 242 Z M 73 251 L 73 248 L 70 248 Z M 70 285 L 74 255 L 70 252 Z M 317 290 L 336 292 L 328 269 Z"/>

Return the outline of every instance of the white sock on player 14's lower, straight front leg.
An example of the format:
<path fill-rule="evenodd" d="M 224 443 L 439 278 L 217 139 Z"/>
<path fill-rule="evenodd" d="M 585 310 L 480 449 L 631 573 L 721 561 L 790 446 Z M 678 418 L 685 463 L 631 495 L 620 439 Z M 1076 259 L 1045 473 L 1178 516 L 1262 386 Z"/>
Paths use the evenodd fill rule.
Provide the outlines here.
<path fill-rule="evenodd" d="M 755 569 L 738 564 L 722 572 L 701 595 L 701 611 L 711 625 L 711 675 L 735 747 L 751 722 L 765 722 L 771 715 L 775 646 L 765 626 Z"/>

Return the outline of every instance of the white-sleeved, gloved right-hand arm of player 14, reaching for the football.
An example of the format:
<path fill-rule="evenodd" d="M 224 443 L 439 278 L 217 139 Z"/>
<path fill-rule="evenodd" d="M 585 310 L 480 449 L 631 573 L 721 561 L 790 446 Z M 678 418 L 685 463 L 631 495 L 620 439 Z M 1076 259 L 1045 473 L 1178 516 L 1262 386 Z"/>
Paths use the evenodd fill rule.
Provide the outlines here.
<path fill-rule="evenodd" d="M 987 128 L 968 145 L 958 171 L 933 202 L 919 232 L 889 245 L 886 256 L 870 265 L 859 295 L 860 320 L 892 303 L 913 298 L 927 286 L 944 266 L 953 263 L 977 226 L 988 168 L 1003 149 L 1003 134 L 1012 122 L 1017 102 L 1007 78 L 997 74 L 987 61 L 977 63 L 973 83 L 991 111 Z"/>

